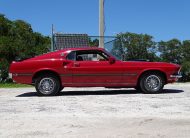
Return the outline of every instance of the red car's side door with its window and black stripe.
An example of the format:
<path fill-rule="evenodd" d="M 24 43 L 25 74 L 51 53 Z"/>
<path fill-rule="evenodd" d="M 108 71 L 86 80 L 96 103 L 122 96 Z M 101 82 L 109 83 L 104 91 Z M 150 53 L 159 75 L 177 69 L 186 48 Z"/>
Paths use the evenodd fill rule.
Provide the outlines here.
<path fill-rule="evenodd" d="M 73 85 L 75 86 L 114 86 L 121 83 L 122 64 L 120 61 L 109 62 L 109 56 L 103 51 L 79 51 L 72 67 Z M 104 56 L 102 56 L 102 54 Z M 99 56 L 100 60 L 89 60 L 89 55 Z M 106 57 L 107 56 L 107 57 Z M 82 57 L 82 58 L 81 58 Z M 85 59 L 86 58 L 86 59 Z M 76 57 L 77 59 L 77 57 Z"/>

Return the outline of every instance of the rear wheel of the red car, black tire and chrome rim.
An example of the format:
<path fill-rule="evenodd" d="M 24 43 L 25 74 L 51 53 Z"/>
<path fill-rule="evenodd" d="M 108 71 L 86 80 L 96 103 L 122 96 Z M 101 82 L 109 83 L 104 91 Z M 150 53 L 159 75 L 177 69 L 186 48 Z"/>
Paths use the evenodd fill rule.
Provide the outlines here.
<path fill-rule="evenodd" d="M 44 74 L 35 81 L 38 96 L 55 96 L 60 92 L 60 81 L 55 75 Z"/>

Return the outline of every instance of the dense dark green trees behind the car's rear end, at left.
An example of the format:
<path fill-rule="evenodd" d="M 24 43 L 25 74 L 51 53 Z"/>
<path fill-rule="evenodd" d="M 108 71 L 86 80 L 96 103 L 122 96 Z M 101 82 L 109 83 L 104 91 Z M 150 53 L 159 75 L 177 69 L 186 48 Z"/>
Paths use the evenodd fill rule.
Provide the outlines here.
<path fill-rule="evenodd" d="M 11 21 L 0 14 L 0 80 L 8 76 L 12 61 L 46 53 L 49 49 L 49 37 L 34 32 L 25 21 Z"/>

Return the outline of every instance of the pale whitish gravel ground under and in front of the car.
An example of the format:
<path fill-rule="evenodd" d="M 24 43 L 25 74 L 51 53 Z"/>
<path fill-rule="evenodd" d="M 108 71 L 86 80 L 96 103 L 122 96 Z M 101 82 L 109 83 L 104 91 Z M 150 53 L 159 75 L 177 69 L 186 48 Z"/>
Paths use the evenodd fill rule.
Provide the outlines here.
<path fill-rule="evenodd" d="M 0 137 L 189 138 L 190 83 L 166 85 L 157 95 L 66 88 L 37 97 L 34 88 L 0 88 Z"/>

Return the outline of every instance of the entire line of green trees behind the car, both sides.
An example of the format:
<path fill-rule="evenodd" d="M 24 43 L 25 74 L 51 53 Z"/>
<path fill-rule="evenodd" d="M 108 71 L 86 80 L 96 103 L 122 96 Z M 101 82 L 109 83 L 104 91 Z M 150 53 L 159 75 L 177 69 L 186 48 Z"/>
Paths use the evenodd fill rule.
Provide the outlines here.
<path fill-rule="evenodd" d="M 50 37 L 34 32 L 29 23 L 11 21 L 0 14 L 0 82 L 7 81 L 12 61 L 46 53 L 50 51 L 50 44 Z M 98 40 L 90 44 L 97 46 Z M 124 60 L 148 59 L 180 64 L 181 81 L 190 81 L 190 40 L 155 42 L 151 35 L 126 32 L 117 35 L 112 53 L 125 54 Z"/>

